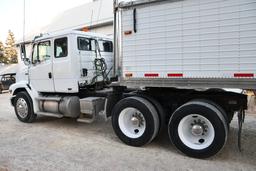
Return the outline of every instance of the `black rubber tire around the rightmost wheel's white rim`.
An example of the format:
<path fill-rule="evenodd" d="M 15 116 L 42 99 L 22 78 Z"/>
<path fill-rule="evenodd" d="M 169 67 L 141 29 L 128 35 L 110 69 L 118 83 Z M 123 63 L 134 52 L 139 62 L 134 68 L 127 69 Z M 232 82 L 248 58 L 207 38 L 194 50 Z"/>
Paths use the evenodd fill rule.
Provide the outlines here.
<path fill-rule="evenodd" d="M 214 129 L 212 142 L 202 149 L 196 149 L 195 147 L 186 145 L 181 140 L 178 132 L 178 127 L 182 119 L 192 114 L 206 118 Z M 225 118 L 216 106 L 203 101 L 191 101 L 182 105 L 173 113 L 169 121 L 168 132 L 170 140 L 181 152 L 190 157 L 207 158 L 215 155 L 223 148 L 227 141 L 228 128 Z M 188 132 L 190 134 L 190 129 L 188 129 Z"/>

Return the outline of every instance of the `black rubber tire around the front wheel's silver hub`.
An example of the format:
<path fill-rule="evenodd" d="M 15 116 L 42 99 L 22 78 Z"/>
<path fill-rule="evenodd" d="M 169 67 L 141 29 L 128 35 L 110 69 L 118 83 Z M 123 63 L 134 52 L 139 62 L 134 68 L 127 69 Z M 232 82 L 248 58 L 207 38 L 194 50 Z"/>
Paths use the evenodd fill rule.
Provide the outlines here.
<path fill-rule="evenodd" d="M 19 115 L 18 111 L 17 111 L 17 102 L 18 100 L 24 100 L 27 104 L 27 115 L 25 115 L 24 117 L 22 117 L 21 115 Z M 32 123 L 35 121 L 36 119 L 36 114 L 34 113 L 33 110 L 33 102 L 32 99 L 30 98 L 30 96 L 28 95 L 27 92 L 23 91 L 23 92 L 19 92 L 15 99 L 14 99 L 14 109 L 15 109 L 15 113 L 17 118 L 21 121 L 21 122 L 25 122 L 25 123 Z"/>

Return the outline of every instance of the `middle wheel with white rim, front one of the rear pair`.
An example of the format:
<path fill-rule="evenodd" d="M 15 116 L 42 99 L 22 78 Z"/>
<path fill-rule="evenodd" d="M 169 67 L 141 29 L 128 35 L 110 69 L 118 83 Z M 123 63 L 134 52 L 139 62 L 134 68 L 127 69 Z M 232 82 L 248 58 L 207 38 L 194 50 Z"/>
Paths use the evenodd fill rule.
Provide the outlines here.
<path fill-rule="evenodd" d="M 142 146 L 156 137 L 159 117 L 155 107 L 146 99 L 128 97 L 115 105 L 112 112 L 112 126 L 124 143 Z"/>

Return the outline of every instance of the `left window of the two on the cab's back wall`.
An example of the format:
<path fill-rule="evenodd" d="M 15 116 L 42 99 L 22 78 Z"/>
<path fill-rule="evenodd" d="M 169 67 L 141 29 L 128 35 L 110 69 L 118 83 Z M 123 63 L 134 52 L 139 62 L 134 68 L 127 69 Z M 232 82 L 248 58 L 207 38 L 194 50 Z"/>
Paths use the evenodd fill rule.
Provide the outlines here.
<path fill-rule="evenodd" d="M 84 51 L 92 51 L 95 50 L 95 40 L 94 39 L 88 39 L 85 37 L 78 37 L 77 38 L 77 47 L 78 50 L 84 50 Z"/>

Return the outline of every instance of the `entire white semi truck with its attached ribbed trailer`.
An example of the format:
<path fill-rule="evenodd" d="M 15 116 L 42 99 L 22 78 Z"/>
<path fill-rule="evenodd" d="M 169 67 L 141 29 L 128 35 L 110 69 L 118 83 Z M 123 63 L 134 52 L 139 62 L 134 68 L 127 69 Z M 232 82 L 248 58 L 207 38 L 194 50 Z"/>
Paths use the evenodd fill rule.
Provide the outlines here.
<path fill-rule="evenodd" d="M 207 158 L 239 135 L 256 89 L 256 1 L 114 1 L 114 38 L 70 31 L 20 53 L 26 79 L 11 86 L 18 119 L 37 115 L 92 123 L 111 118 L 117 137 L 143 146 L 161 131 L 184 154 Z"/>

